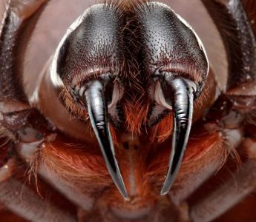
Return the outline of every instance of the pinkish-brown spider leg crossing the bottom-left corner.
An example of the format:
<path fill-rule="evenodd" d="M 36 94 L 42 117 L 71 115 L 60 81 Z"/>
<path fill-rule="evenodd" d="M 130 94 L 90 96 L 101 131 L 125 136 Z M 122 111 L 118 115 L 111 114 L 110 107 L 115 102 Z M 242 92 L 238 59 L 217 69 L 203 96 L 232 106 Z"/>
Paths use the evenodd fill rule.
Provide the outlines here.
<path fill-rule="evenodd" d="M 29 221 L 53 221 L 53 218 L 54 221 L 76 221 L 72 204 L 65 206 L 55 203 L 56 198 L 59 203 L 67 201 L 49 189 L 45 189 L 46 197 L 41 198 L 31 184 L 22 180 L 16 165 L 16 161 L 10 159 L 0 169 L 0 201 L 4 206 Z"/>

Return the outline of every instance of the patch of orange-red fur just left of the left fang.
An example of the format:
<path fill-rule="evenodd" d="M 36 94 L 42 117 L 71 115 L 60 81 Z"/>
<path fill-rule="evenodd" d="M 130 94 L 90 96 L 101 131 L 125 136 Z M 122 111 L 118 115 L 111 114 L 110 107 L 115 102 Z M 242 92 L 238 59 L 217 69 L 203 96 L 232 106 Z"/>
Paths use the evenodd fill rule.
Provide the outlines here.
<path fill-rule="evenodd" d="M 63 138 L 58 138 L 53 143 L 44 145 L 42 160 L 49 170 L 53 170 L 68 181 L 107 186 L 112 181 L 102 155 L 96 147 L 98 146 L 66 144 Z"/>

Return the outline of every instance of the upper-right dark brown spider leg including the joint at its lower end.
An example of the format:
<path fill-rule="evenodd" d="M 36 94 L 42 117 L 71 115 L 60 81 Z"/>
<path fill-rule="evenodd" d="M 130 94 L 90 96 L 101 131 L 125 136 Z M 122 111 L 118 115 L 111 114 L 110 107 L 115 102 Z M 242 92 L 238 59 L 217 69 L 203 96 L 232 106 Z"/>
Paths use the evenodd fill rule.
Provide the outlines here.
<path fill-rule="evenodd" d="M 220 31 L 229 64 L 226 92 L 215 104 L 232 104 L 232 110 L 245 116 L 244 121 L 255 124 L 256 38 L 246 10 L 240 0 L 202 1 Z"/>

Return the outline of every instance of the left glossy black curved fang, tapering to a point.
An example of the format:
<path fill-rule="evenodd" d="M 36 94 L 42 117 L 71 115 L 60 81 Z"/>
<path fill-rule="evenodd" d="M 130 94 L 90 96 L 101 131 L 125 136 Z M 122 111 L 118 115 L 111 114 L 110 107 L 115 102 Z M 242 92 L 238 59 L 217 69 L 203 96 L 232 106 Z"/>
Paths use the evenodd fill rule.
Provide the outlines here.
<path fill-rule="evenodd" d="M 113 141 L 108 127 L 108 105 L 105 104 L 103 96 L 104 85 L 99 80 L 93 80 L 88 83 L 87 90 L 85 91 L 88 114 L 99 142 L 99 147 L 102 150 L 108 172 L 119 189 L 119 192 L 121 192 L 125 199 L 128 199 L 125 184 L 115 158 Z"/>

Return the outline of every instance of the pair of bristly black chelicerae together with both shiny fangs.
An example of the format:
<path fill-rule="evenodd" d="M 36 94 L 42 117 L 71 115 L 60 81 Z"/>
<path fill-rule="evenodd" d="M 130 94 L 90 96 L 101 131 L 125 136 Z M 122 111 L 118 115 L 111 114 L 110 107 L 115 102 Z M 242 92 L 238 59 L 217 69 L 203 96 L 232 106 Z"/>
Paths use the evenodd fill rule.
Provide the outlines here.
<path fill-rule="evenodd" d="M 77 107 L 77 117 L 89 117 L 108 170 L 125 197 L 109 123 L 119 131 L 140 132 L 172 114 L 165 195 L 180 168 L 194 100 L 203 91 L 209 63 L 200 38 L 165 4 L 139 4 L 130 11 L 125 14 L 111 4 L 85 11 L 59 44 L 51 79 L 64 90 L 67 106 Z"/>

